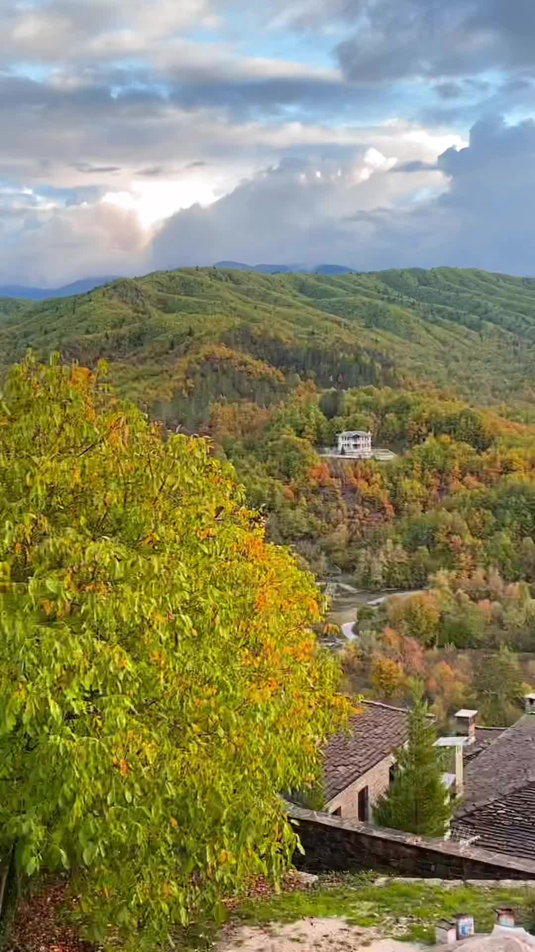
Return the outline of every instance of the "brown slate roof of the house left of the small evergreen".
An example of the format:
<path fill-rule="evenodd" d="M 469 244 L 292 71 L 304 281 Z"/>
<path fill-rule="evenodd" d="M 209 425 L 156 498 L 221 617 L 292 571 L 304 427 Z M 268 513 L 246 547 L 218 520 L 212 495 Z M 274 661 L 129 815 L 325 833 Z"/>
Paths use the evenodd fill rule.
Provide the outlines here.
<path fill-rule="evenodd" d="M 349 734 L 332 737 L 325 750 L 327 802 L 406 743 L 408 711 L 405 707 L 363 701 L 362 713 L 350 718 L 349 729 Z"/>

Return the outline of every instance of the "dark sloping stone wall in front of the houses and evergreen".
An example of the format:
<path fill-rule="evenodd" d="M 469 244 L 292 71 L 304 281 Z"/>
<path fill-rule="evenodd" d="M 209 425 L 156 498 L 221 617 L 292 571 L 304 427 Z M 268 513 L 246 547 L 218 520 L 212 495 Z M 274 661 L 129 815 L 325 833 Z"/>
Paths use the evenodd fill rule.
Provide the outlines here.
<path fill-rule="evenodd" d="M 378 869 L 443 880 L 535 880 L 535 861 L 426 840 L 290 804 L 287 809 L 305 849 L 305 856 L 296 853 L 294 862 L 309 872 Z"/>

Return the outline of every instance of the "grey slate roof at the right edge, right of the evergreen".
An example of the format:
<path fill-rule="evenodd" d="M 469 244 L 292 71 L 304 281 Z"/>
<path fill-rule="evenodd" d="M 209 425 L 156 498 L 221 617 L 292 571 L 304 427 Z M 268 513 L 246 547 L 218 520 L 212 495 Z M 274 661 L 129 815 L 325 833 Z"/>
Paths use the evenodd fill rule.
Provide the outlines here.
<path fill-rule="evenodd" d="M 468 831 L 478 846 L 534 859 L 534 818 L 535 717 L 525 715 L 466 764 L 453 835 L 464 839 Z"/>

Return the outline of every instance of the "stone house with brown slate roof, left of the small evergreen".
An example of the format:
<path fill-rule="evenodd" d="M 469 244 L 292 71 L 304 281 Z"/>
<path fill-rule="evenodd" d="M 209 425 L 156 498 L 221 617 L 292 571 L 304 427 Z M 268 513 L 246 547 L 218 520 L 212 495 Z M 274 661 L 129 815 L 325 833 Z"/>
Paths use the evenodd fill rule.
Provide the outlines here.
<path fill-rule="evenodd" d="M 392 779 L 395 752 L 408 739 L 408 710 L 363 701 L 349 730 L 331 738 L 325 750 L 324 809 L 346 820 L 372 823 L 373 806 Z"/>

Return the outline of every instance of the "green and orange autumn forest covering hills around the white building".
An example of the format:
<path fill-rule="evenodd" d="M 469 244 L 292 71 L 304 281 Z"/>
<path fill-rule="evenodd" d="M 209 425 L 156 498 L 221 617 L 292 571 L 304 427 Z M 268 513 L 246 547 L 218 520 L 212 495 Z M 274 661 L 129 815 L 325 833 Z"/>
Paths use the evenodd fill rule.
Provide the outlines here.
<path fill-rule="evenodd" d="M 535 645 L 534 280 L 455 268 L 159 272 L 0 301 L 0 345 L 6 367 L 29 347 L 89 367 L 107 359 L 119 392 L 164 433 L 211 439 L 268 538 L 318 579 L 342 570 L 370 590 L 431 586 L 434 607 L 360 625 L 376 640 L 348 659 L 350 684 L 405 697 L 423 680 L 446 718 L 463 704 L 454 682 L 487 722 L 514 719 L 527 661 L 504 665 L 498 697 L 476 683 L 471 656 L 460 666 L 431 654 Z M 395 457 L 325 455 L 343 429 L 370 429 Z"/>

